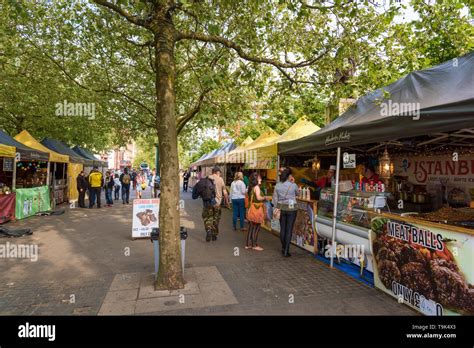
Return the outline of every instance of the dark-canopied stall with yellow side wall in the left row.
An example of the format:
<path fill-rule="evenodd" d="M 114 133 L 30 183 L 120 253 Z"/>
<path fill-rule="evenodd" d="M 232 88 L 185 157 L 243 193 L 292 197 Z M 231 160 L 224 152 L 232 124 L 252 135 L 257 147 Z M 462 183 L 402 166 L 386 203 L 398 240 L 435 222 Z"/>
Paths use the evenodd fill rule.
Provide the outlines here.
<path fill-rule="evenodd" d="M 79 193 L 76 186 L 76 178 L 79 173 L 83 170 L 85 164 L 92 163 L 92 161 L 86 160 L 76 154 L 71 150 L 67 145 L 63 144 L 59 140 L 54 140 L 50 138 L 44 138 L 41 141 L 41 144 L 46 146 L 48 149 L 56 151 L 60 154 L 66 155 L 69 157 L 69 162 L 67 164 L 67 170 L 63 172 L 63 175 L 57 175 L 55 177 L 56 185 L 63 188 L 64 198 L 62 201 L 65 202 L 76 202 L 79 198 Z M 58 191 L 59 192 L 59 191 Z M 55 196 L 58 199 L 58 202 L 61 201 L 60 196 Z"/>

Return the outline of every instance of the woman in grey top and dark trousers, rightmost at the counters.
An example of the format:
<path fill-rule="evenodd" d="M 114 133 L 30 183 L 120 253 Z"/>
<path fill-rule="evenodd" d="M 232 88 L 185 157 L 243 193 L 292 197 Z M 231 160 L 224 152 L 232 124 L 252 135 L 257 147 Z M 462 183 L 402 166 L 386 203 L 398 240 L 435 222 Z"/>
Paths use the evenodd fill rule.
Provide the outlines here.
<path fill-rule="evenodd" d="M 290 242 L 293 226 L 296 221 L 298 186 L 294 183 L 291 171 L 283 170 L 280 182 L 276 184 L 273 192 L 273 216 L 280 219 L 281 253 L 285 257 L 291 256 Z"/>

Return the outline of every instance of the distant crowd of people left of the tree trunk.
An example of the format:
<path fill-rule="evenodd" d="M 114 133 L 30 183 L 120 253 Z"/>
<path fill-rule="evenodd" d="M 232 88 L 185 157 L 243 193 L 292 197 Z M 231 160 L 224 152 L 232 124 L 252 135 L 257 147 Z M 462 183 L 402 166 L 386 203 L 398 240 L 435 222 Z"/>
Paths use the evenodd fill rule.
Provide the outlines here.
<path fill-rule="evenodd" d="M 106 207 L 111 207 L 114 200 L 122 198 L 122 204 L 130 204 L 130 188 L 137 191 L 137 198 L 142 198 L 142 193 L 148 186 L 152 187 L 152 197 L 160 195 L 160 177 L 153 170 L 147 175 L 144 170 L 135 171 L 124 168 L 122 173 L 107 171 L 105 178 L 97 166 L 93 167 L 86 176 L 81 171 L 76 178 L 77 191 L 79 193 L 79 208 L 86 208 L 85 197 L 89 194 L 89 208 L 93 208 L 97 202 L 97 208 L 101 208 L 101 192 L 105 192 Z M 121 193 L 121 194 L 120 194 Z"/>

